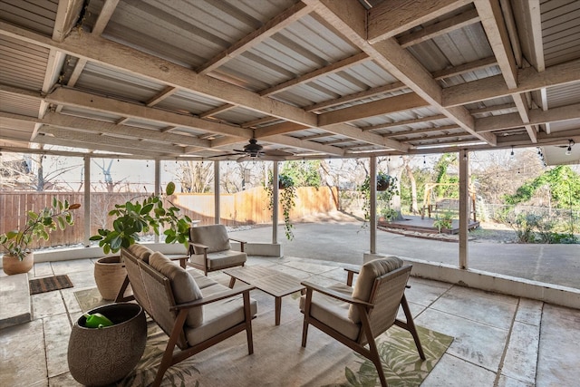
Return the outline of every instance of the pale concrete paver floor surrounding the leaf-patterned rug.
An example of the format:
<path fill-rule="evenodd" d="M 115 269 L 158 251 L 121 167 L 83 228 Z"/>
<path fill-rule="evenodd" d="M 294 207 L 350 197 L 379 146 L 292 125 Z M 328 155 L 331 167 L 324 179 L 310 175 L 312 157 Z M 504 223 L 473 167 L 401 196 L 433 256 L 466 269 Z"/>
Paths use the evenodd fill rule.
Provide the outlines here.
<path fill-rule="evenodd" d="M 1 385 L 78 385 L 66 361 L 71 324 L 81 315 L 73 292 L 95 286 L 93 265 L 92 259 L 35 265 L 29 277 L 65 273 L 74 287 L 32 295 L 33 321 L 0 330 Z M 290 256 L 250 256 L 248 265 L 322 285 L 343 282 L 343 267 L 353 266 Z M 211 276 L 229 281 L 220 272 Z M 422 386 L 573 386 L 580 380 L 580 310 L 415 277 L 410 284 L 416 324 L 455 338 Z M 282 313 L 283 320 L 301 324 L 297 304 L 285 300 Z M 245 385 L 243 375 L 239 385 Z"/>

